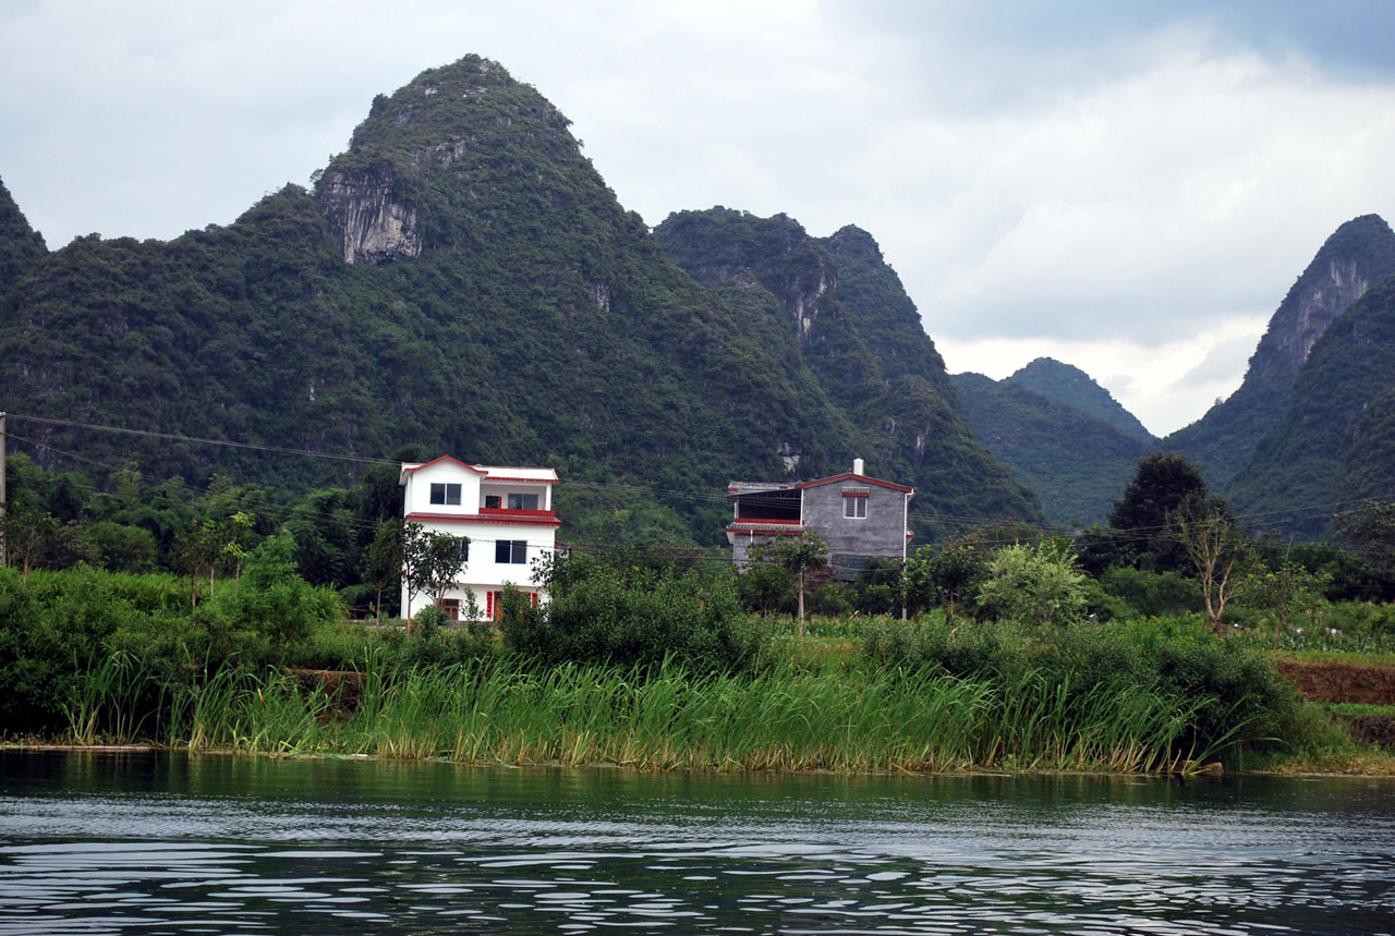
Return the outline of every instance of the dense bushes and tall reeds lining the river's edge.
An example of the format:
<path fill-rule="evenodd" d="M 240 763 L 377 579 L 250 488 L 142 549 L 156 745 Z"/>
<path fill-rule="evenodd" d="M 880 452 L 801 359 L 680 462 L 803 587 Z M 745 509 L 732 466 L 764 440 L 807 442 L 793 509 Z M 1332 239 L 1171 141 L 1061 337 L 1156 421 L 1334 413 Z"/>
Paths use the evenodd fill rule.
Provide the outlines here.
<path fill-rule="evenodd" d="M 244 578 L 190 611 L 184 580 L 0 569 L 6 735 L 644 770 L 1149 773 L 1359 753 L 1268 650 L 1198 618 L 936 611 L 822 619 L 797 639 L 720 580 L 635 573 L 573 583 L 547 617 L 525 604 L 502 632 L 409 631 L 276 587 Z"/>

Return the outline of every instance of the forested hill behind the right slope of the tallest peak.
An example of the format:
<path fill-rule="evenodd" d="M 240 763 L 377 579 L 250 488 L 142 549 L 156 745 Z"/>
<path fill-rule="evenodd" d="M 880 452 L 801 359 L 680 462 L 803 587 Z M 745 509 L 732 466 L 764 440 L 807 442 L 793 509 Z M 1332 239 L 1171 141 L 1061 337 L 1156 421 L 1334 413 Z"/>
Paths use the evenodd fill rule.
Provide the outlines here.
<path fill-rule="evenodd" d="M 974 438 L 915 304 L 866 232 L 810 237 L 791 218 L 727 208 L 656 229 L 698 282 L 742 294 L 783 329 L 787 353 L 864 428 L 884 477 L 915 484 L 919 509 L 1038 518 L 1036 499 Z"/>

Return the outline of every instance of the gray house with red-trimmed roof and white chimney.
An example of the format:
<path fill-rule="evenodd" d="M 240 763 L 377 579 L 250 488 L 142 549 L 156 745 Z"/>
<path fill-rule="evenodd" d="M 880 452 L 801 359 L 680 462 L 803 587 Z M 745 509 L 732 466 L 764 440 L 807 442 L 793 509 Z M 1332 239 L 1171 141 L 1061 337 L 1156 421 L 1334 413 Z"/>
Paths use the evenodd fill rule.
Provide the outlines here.
<path fill-rule="evenodd" d="M 810 531 L 829 544 L 833 578 L 852 579 L 873 557 L 905 559 L 914 495 L 914 487 L 864 474 L 862 459 L 854 459 L 847 474 L 816 481 L 732 481 L 727 485 L 727 501 L 735 506 L 727 526 L 731 561 L 744 566 L 752 547 Z"/>

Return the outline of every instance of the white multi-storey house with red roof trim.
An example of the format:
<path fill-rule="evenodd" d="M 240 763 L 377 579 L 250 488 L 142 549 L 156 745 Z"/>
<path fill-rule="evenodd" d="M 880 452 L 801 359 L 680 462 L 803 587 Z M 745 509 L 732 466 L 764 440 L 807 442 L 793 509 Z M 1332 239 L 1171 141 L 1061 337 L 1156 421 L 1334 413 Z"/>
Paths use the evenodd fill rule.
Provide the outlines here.
<path fill-rule="evenodd" d="M 459 621 L 467 607 L 466 594 L 484 619 L 495 619 L 499 594 L 512 584 L 541 600 L 533 584 L 533 561 L 551 555 L 561 526 L 552 509 L 552 469 L 466 465 L 449 455 L 424 465 L 403 465 L 398 483 L 406 488 L 403 519 L 427 530 L 467 537 L 466 559 L 459 579 L 446 591 L 442 608 Z M 431 603 L 428 594 L 407 601 L 402 584 L 402 614 L 412 617 Z"/>

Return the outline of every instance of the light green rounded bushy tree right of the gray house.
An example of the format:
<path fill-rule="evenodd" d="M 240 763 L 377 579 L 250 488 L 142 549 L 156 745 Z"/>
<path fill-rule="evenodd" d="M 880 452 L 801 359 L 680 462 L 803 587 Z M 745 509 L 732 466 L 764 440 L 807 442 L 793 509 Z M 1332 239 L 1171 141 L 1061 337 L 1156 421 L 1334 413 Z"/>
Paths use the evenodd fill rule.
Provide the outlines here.
<path fill-rule="evenodd" d="M 978 604 L 995 618 L 1036 625 L 1078 621 L 1085 610 L 1085 576 L 1070 547 L 1042 540 L 1035 547 L 1010 545 L 988 564 Z"/>

